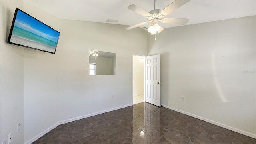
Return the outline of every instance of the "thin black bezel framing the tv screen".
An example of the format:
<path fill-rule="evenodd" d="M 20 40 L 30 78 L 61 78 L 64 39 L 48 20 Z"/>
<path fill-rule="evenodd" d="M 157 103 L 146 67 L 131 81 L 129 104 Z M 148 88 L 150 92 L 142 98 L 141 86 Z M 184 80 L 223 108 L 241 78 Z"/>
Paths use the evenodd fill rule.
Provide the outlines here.
<path fill-rule="evenodd" d="M 56 49 L 57 49 L 57 45 L 58 45 L 58 41 L 59 41 L 59 38 L 60 38 L 60 32 L 58 32 L 57 30 L 55 30 L 55 29 L 53 29 L 52 27 L 48 26 L 47 24 L 44 24 L 44 23 L 41 22 L 40 20 L 38 20 L 38 19 L 34 18 L 33 16 L 31 16 L 30 14 L 27 14 L 27 13 L 24 12 L 23 10 L 20 10 L 20 11 L 23 12 L 24 14 L 30 16 L 31 18 L 34 18 L 34 19 L 37 20 L 38 22 L 41 22 L 41 23 L 44 24 L 45 26 L 48 26 L 48 27 L 51 28 L 52 30 L 55 30 L 56 32 L 59 33 L 58 40 L 57 40 L 57 42 L 56 42 L 55 50 L 54 50 L 54 52 L 50 52 L 50 51 L 41 50 L 41 49 L 38 49 L 38 48 L 33 48 L 33 47 L 30 47 L 30 46 L 24 46 L 24 45 L 22 45 L 22 44 L 16 44 L 16 43 L 10 42 L 11 37 L 12 37 L 12 31 L 13 31 L 13 27 L 14 27 L 14 23 L 15 23 L 15 20 L 16 20 L 16 16 L 17 16 L 18 10 L 20 10 L 20 9 L 19 9 L 19 8 L 16 8 L 16 9 L 15 9 L 14 17 L 13 17 L 13 20 L 12 20 L 12 26 L 11 26 L 11 29 L 10 29 L 10 33 L 9 33 L 9 37 L 8 37 L 7 43 L 9 43 L 9 44 L 14 44 L 14 45 L 17 45 L 17 46 L 22 46 L 22 47 L 25 47 L 25 48 L 31 48 L 31 49 L 34 49 L 34 50 L 39 50 L 39 51 L 42 51 L 42 52 L 48 52 L 48 53 L 51 53 L 51 54 L 55 54 Z"/>

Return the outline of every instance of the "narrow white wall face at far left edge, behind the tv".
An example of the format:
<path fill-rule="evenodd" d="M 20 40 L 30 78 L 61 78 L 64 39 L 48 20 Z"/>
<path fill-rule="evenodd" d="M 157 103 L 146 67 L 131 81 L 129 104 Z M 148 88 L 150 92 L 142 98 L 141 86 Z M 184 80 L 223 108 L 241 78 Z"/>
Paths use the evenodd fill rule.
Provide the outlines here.
<path fill-rule="evenodd" d="M 23 119 L 23 87 L 24 87 L 24 48 L 7 44 L 12 18 L 16 6 L 23 8 L 22 2 L 0 1 L 1 6 L 1 35 L 0 35 L 0 99 L 1 99 L 1 138 L 6 140 L 8 134 L 12 135 L 12 143 L 23 142 L 24 127 L 17 132 L 17 124 L 24 125 Z"/>

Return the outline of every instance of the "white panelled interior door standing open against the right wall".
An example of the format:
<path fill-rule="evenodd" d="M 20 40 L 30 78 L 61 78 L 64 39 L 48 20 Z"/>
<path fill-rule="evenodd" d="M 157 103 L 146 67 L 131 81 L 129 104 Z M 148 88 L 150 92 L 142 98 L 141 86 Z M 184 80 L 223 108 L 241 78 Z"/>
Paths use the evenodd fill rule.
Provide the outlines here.
<path fill-rule="evenodd" d="M 160 102 L 160 54 L 146 56 L 145 96 L 146 102 L 161 106 Z"/>

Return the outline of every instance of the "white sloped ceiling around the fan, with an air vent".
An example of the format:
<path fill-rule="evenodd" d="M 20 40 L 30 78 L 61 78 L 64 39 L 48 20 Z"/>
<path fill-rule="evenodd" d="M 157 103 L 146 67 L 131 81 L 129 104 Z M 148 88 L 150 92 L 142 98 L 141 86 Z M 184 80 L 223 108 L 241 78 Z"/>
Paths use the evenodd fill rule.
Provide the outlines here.
<path fill-rule="evenodd" d="M 156 0 L 156 9 L 163 10 L 174 0 Z M 154 0 L 26 0 L 26 2 L 61 19 L 82 20 L 122 25 L 135 25 L 147 19 L 127 7 L 135 4 L 150 11 Z M 191 0 L 165 18 L 188 18 L 189 24 L 212 22 L 256 15 L 256 0 Z M 115 19 L 118 22 L 106 22 Z M 163 28 L 180 26 L 162 24 Z M 141 27 L 149 27 L 150 23 Z"/>

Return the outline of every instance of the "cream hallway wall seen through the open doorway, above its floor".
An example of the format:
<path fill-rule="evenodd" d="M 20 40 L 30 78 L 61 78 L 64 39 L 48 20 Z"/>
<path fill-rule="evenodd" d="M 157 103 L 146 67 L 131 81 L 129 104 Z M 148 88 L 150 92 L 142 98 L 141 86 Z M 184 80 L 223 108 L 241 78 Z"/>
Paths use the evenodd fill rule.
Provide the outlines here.
<path fill-rule="evenodd" d="M 133 96 L 144 94 L 144 62 L 145 58 L 132 56 Z"/>

